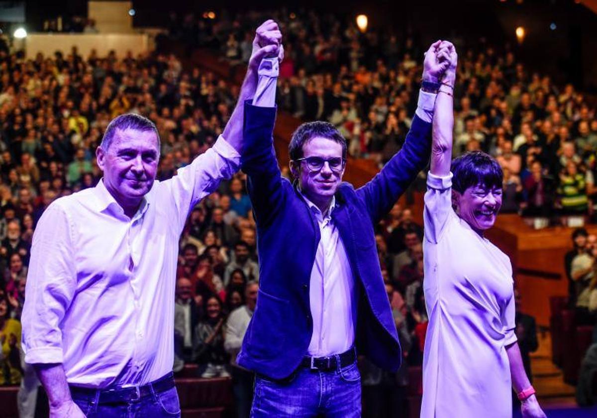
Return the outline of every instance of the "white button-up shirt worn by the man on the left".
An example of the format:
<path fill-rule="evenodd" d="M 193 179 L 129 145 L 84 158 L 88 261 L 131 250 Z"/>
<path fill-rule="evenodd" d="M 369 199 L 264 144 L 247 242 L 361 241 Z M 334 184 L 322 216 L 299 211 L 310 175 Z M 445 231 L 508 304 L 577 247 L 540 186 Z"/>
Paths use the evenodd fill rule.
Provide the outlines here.
<path fill-rule="evenodd" d="M 223 138 L 156 181 L 130 219 L 100 181 L 54 201 L 33 235 L 23 349 L 91 388 L 152 382 L 172 370 L 179 238 L 189 211 L 231 177 Z"/>

